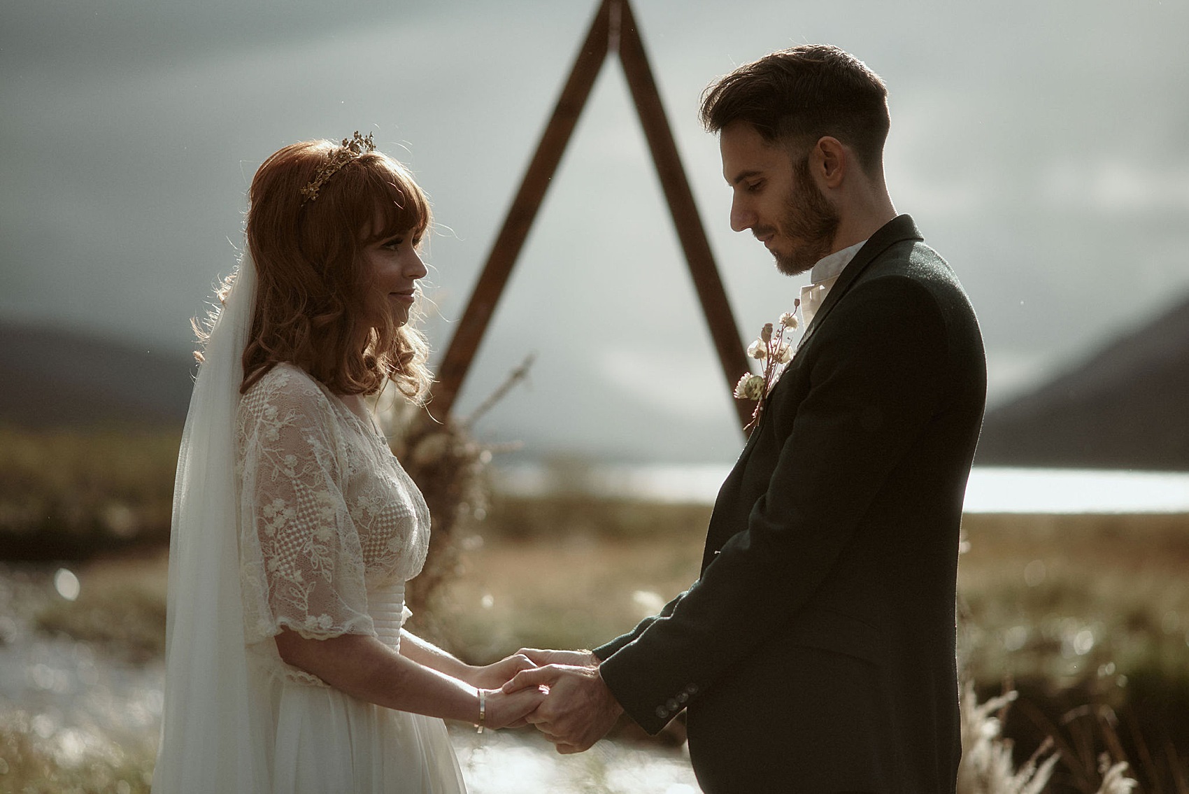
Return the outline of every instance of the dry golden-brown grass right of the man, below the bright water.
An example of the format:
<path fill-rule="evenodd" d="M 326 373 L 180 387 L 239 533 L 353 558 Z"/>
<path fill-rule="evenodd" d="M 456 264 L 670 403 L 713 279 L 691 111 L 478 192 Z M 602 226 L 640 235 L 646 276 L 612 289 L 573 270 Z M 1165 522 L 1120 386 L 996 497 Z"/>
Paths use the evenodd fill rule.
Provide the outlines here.
<path fill-rule="evenodd" d="M 964 530 L 962 658 L 982 692 L 1019 689 L 1018 755 L 1056 739 L 1045 790 L 1099 790 L 1126 760 L 1141 790 L 1189 793 L 1189 516 L 975 515 Z"/>

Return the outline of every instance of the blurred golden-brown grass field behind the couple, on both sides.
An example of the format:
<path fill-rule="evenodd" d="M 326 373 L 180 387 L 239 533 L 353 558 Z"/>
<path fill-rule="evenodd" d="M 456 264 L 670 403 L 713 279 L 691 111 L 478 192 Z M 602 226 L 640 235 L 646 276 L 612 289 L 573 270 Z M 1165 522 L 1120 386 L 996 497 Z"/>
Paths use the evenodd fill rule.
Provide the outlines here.
<path fill-rule="evenodd" d="M 74 557 L 80 580 L 77 600 L 49 599 L 36 625 L 159 658 L 176 439 L 0 441 L 0 556 L 43 569 Z M 460 568 L 440 598 L 414 605 L 415 630 L 471 661 L 630 629 L 697 575 L 710 509 L 568 494 L 496 497 L 486 513 L 457 531 Z M 1005 714 L 1018 762 L 1051 736 L 1062 758 L 1046 790 L 1097 790 L 1107 751 L 1141 790 L 1189 793 L 1189 516 L 968 515 L 964 535 L 960 658 L 982 699 L 1020 693 Z M 29 738 L 10 729 L 0 748 L 30 755 Z"/>

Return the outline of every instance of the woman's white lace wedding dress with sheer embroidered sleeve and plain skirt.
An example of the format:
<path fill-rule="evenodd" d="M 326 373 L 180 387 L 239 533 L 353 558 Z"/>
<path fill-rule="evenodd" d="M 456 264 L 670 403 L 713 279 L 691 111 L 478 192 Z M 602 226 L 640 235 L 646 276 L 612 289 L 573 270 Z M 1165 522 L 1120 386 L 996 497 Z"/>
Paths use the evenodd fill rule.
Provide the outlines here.
<path fill-rule="evenodd" d="M 429 543 L 420 491 L 375 427 L 291 365 L 244 395 L 238 442 L 244 624 L 273 716 L 273 793 L 464 790 L 442 720 L 333 689 L 281 661 L 272 639 L 288 628 L 398 648 L 404 582 Z"/>

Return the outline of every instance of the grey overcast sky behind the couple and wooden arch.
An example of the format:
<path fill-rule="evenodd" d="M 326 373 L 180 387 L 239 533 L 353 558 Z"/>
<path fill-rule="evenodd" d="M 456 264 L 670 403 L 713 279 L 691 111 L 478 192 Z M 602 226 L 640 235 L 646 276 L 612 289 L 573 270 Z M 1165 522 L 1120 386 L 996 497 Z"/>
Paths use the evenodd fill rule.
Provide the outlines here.
<path fill-rule="evenodd" d="M 372 132 L 440 223 L 441 353 L 593 0 L 61 0 L 0 7 L 0 317 L 184 349 L 276 149 Z M 958 272 L 992 399 L 1189 294 L 1189 2 L 635 0 L 743 333 L 791 308 L 728 223 L 706 83 L 828 42 L 888 83 L 893 201 Z M 730 8 L 730 10 L 728 10 Z M 479 351 L 466 412 L 539 452 L 730 460 L 741 435 L 622 73 L 609 61 Z"/>

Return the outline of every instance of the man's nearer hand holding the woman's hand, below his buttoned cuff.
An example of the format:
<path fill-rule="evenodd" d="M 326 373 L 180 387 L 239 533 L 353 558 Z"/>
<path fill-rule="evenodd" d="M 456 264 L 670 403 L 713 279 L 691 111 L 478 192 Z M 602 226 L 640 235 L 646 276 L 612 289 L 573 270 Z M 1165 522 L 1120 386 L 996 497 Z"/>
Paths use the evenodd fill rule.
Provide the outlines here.
<path fill-rule="evenodd" d="M 549 694 L 526 719 L 556 745 L 558 752 L 589 750 L 623 713 L 594 666 L 548 664 L 521 670 L 503 689 L 516 692 L 541 685 L 549 687 Z"/>

